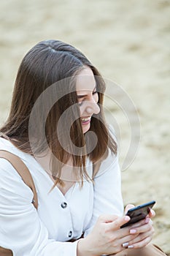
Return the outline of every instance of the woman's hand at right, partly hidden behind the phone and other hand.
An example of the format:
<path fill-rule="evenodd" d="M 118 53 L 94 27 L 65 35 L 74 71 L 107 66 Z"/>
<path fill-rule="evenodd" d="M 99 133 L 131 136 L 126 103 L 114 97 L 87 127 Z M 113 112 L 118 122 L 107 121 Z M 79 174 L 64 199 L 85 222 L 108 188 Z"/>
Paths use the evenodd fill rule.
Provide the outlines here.
<path fill-rule="evenodd" d="M 134 206 L 126 206 L 125 211 L 128 211 L 128 209 L 132 207 Z M 140 222 L 136 222 L 135 224 L 128 227 L 129 233 L 134 233 L 135 236 L 132 240 L 127 237 L 127 242 L 123 244 L 125 248 L 142 248 L 150 243 L 150 241 L 152 240 L 152 235 L 154 233 L 154 228 L 152 227 L 151 220 L 152 217 L 155 217 L 155 211 L 151 209 L 150 213 L 145 219 Z"/>

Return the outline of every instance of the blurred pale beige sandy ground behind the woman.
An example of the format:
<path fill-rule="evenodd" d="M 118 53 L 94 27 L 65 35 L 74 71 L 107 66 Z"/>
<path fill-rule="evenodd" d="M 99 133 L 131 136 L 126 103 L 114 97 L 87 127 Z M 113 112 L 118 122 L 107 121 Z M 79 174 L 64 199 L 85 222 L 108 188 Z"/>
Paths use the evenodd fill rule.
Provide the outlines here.
<path fill-rule="evenodd" d="M 156 200 L 153 241 L 166 253 L 170 253 L 169 17 L 169 0 L 0 1 L 0 123 L 7 117 L 20 61 L 36 42 L 61 39 L 80 48 L 136 105 L 141 140 L 134 162 L 122 172 L 124 203 Z M 107 118 L 120 128 L 122 166 L 131 140 L 123 113 L 128 108 L 115 104 L 114 87 L 109 90 Z M 130 123 L 135 126 L 135 121 Z M 137 142 L 138 126 L 136 133 Z"/>

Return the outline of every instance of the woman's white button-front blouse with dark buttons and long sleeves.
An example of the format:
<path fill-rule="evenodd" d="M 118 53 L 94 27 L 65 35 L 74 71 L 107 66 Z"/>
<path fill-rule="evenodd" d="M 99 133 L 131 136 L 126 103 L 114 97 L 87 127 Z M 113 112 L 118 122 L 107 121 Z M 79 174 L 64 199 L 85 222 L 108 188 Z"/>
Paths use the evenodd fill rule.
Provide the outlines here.
<path fill-rule="evenodd" d="M 29 154 L 0 138 L 0 149 L 16 154 L 31 172 L 38 195 L 38 210 L 31 203 L 33 192 L 18 172 L 0 158 L 0 246 L 14 256 L 76 256 L 77 241 L 87 236 L 101 214 L 123 214 L 118 159 L 109 152 L 101 163 L 94 184 L 76 183 L 65 195 Z M 92 176 L 92 163 L 87 161 Z"/>

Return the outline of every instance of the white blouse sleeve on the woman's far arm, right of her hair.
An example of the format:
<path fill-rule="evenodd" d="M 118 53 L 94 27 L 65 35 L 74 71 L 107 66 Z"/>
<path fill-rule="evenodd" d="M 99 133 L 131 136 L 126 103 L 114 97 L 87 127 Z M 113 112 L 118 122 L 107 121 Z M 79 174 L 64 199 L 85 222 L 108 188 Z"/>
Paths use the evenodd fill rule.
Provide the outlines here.
<path fill-rule="evenodd" d="M 93 229 L 101 214 L 123 215 L 120 167 L 118 157 L 111 151 L 94 178 L 93 192 L 93 217 L 85 230 L 85 236 Z"/>

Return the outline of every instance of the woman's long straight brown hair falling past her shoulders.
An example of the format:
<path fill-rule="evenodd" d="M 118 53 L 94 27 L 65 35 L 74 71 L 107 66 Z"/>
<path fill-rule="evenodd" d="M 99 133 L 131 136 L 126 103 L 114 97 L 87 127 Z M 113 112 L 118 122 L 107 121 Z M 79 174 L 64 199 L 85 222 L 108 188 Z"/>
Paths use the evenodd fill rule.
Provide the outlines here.
<path fill-rule="evenodd" d="M 79 108 L 76 104 L 78 101 L 74 78 L 85 66 L 90 67 L 95 76 L 98 105 L 100 106 L 100 113 L 93 115 L 91 118 L 90 131 L 95 132 L 97 143 L 96 147 L 90 152 L 88 152 L 88 142 L 90 139 L 85 141 L 80 118 L 76 118 L 73 122 L 70 132 L 66 132 L 68 130 L 67 124 L 66 122 L 63 123 L 63 129 L 59 136 L 62 139 L 62 145 L 66 145 L 68 150 L 61 145 L 57 131 L 58 120 L 69 107 L 74 106 L 66 116 L 68 120 L 70 116 L 80 117 Z M 68 82 L 67 78 L 71 78 L 71 80 L 69 79 Z M 63 82 L 60 83 L 60 81 Z M 51 171 L 56 181 L 55 184 L 61 182 L 61 168 L 68 162 L 70 157 L 72 157 L 73 166 L 78 167 L 77 176 L 81 180 L 84 177 L 89 178 L 85 169 L 86 158 L 89 157 L 92 162 L 97 162 L 107 155 L 109 148 L 116 154 L 117 145 L 109 134 L 109 129 L 104 120 L 104 80 L 96 67 L 88 61 L 80 50 L 71 45 L 57 40 L 46 40 L 39 42 L 34 48 L 29 50 L 18 69 L 9 117 L 4 126 L 1 127 L 0 132 L 4 137 L 11 140 L 15 146 L 20 148 L 21 151 L 28 154 L 39 154 L 45 151 L 47 145 L 44 144 L 44 138 L 41 133 L 41 122 L 45 118 L 43 116 L 45 111 L 49 108 L 50 95 L 45 98 L 41 108 L 36 113 L 35 122 L 39 126 L 34 127 L 36 131 L 34 136 L 34 146 L 36 149 L 34 149 L 34 152 L 30 144 L 29 121 L 37 99 L 52 85 L 55 85 L 53 87 L 53 96 L 57 95 L 59 91 L 63 92 L 63 97 L 53 104 L 45 121 L 47 145 L 53 152 Z M 73 87 L 74 90 L 69 91 L 69 87 Z M 71 144 L 68 143 L 70 140 L 69 136 L 74 146 L 80 148 L 79 154 L 74 154 Z"/>

